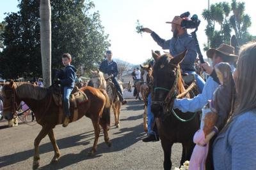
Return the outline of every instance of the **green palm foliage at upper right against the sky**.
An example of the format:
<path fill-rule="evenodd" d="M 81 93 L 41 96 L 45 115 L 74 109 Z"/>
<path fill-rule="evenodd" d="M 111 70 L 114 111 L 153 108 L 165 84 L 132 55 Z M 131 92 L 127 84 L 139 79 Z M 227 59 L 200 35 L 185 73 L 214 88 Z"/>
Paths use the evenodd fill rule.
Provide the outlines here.
<path fill-rule="evenodd" d="M 221 43 L 230 44 L 232 29 L 240 45 L 252 40 L 252 36 L 248 33 L 248 27 L 252 22 L 244 10 L 244 3 L 232 0 L 231 4 L 227 2 L 211 4 L 210 10 L 203 11 L 203 18 L 207 20 L 205 34 L 209 38 L 211 48 L 216 48 Z M 220 30 L 216 29 L 217 24 L 220 25 Z M 204 50 L 207 49 L 204 46 Z"/>

